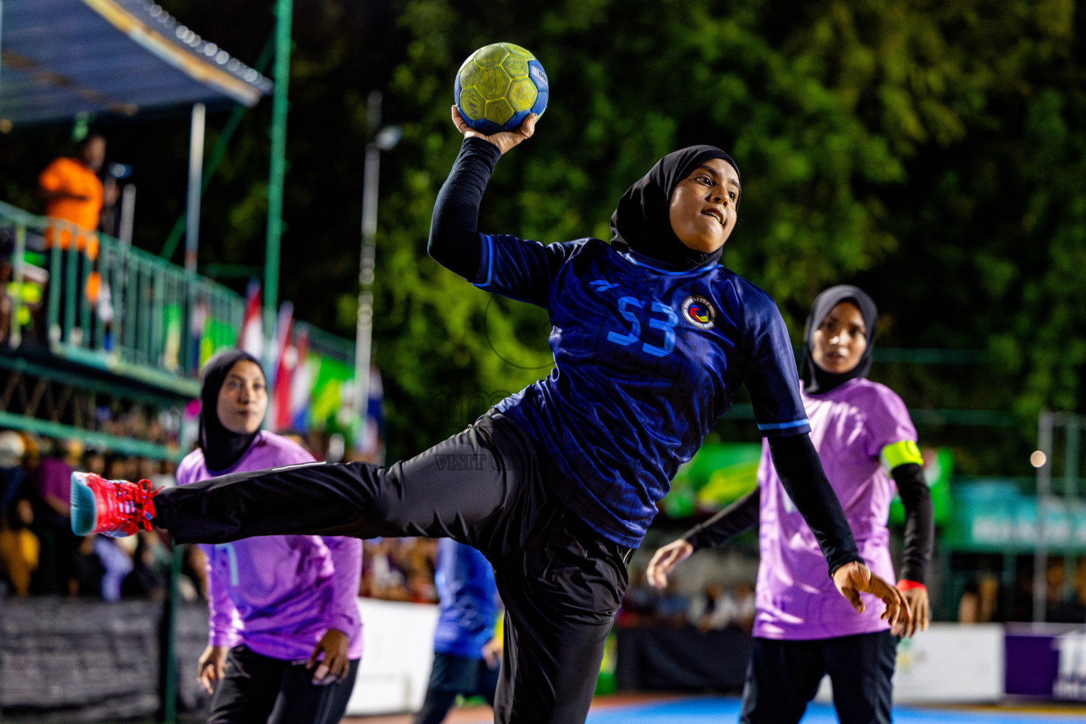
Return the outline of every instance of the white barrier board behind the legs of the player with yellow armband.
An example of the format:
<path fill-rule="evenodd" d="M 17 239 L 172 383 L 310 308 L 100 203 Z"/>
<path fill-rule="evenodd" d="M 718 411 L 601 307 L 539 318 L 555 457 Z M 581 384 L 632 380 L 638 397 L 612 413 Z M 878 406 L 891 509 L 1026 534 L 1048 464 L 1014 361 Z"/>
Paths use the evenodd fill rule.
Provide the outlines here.
<path fill-rule="evenodd" d="M 897 647 L 894 703 L 984 703 L 1003 696 L 1003 627 L 933 623 Z M 830 677 L 817 701 L 830 701 Z"/>

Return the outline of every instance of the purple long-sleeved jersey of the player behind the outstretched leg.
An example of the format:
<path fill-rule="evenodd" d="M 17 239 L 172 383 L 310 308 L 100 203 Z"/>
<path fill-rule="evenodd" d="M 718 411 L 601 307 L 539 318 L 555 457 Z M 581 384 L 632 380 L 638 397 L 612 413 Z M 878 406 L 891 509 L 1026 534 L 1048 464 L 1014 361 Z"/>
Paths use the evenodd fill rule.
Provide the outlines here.
<path fill-rule="evenodd" d="M 215 474 L 300 462 L 313 462 L 313 456 L 286 437 L 261 432 L 233 467 Z M 214 477 L 199 449 L 177 469 L 178 485 Z M 200 547 L 207 556 L 212 646 L 244 644 L 261 656 L 305 661 L 325 632 L 338 628 L 350 637 L 349 658 L 362 658 L 362 541 L 265 535 Z"/>

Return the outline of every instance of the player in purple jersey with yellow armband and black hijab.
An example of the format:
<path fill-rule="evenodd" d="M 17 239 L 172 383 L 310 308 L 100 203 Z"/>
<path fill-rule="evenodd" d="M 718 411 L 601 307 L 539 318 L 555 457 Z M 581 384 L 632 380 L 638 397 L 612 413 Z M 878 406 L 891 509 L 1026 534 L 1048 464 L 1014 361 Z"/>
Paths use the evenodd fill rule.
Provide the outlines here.
<path fill-rule="evenodd" d="M 874 302 L 856 287 L 833 287 L 819 294 L 804 339 L 804 405 L 811 439 L 860 555 L 872 571 L 889 580 L 894 567 L 886 519 L 895 483 L 900 491 L 906 528 L 898 588 L 912 618 L 893 633 L 912 636 L 927 627 L 924 572 L 934 535 L 932 500 L 905 404 L 888 388 L 866 379 L 876 317 Z M 829 674 L 842 724 L 888 723 L 896 637 L 873 610 L 856 615 L 826 585 L 816 538 L 781 485 L 768 448 L 758 468 L 758 486 L 657 550 L 647 571 L 649 582 L 662 588 L 668 573 L 695 550 L 720 545 L 755 524 L 761 564 L 741 721 L 798 722 Z"/>

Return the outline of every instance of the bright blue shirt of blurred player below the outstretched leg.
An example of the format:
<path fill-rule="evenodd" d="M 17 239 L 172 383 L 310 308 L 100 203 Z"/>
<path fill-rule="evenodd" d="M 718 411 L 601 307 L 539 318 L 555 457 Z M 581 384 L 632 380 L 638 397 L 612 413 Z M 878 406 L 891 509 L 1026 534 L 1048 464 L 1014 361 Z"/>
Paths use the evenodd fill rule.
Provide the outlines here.
<path fill-rule="evenodd" d="M 433 650 L 482 659 L 482 647 L 494 636 L 497 586 L 481 552 L 452 538 L 438 542 L 438 628 Z"/>

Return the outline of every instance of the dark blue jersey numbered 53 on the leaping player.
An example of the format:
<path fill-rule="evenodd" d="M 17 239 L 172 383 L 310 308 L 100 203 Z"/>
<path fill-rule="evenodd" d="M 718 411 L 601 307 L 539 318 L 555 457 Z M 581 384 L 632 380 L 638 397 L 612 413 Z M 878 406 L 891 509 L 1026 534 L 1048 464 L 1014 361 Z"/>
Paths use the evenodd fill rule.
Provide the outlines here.
<path fill-rule="evenodd" d="M 736 274 L 665 271 L 598 239 L 480 240 L 469 281 L 545 308 L 553 326 L 554 370 L 497 409 L 550 453 L 563 500 L 607 538 L 641 543 L 741 384 L 763 435 L 810 431 L 784 320 Z"/>

